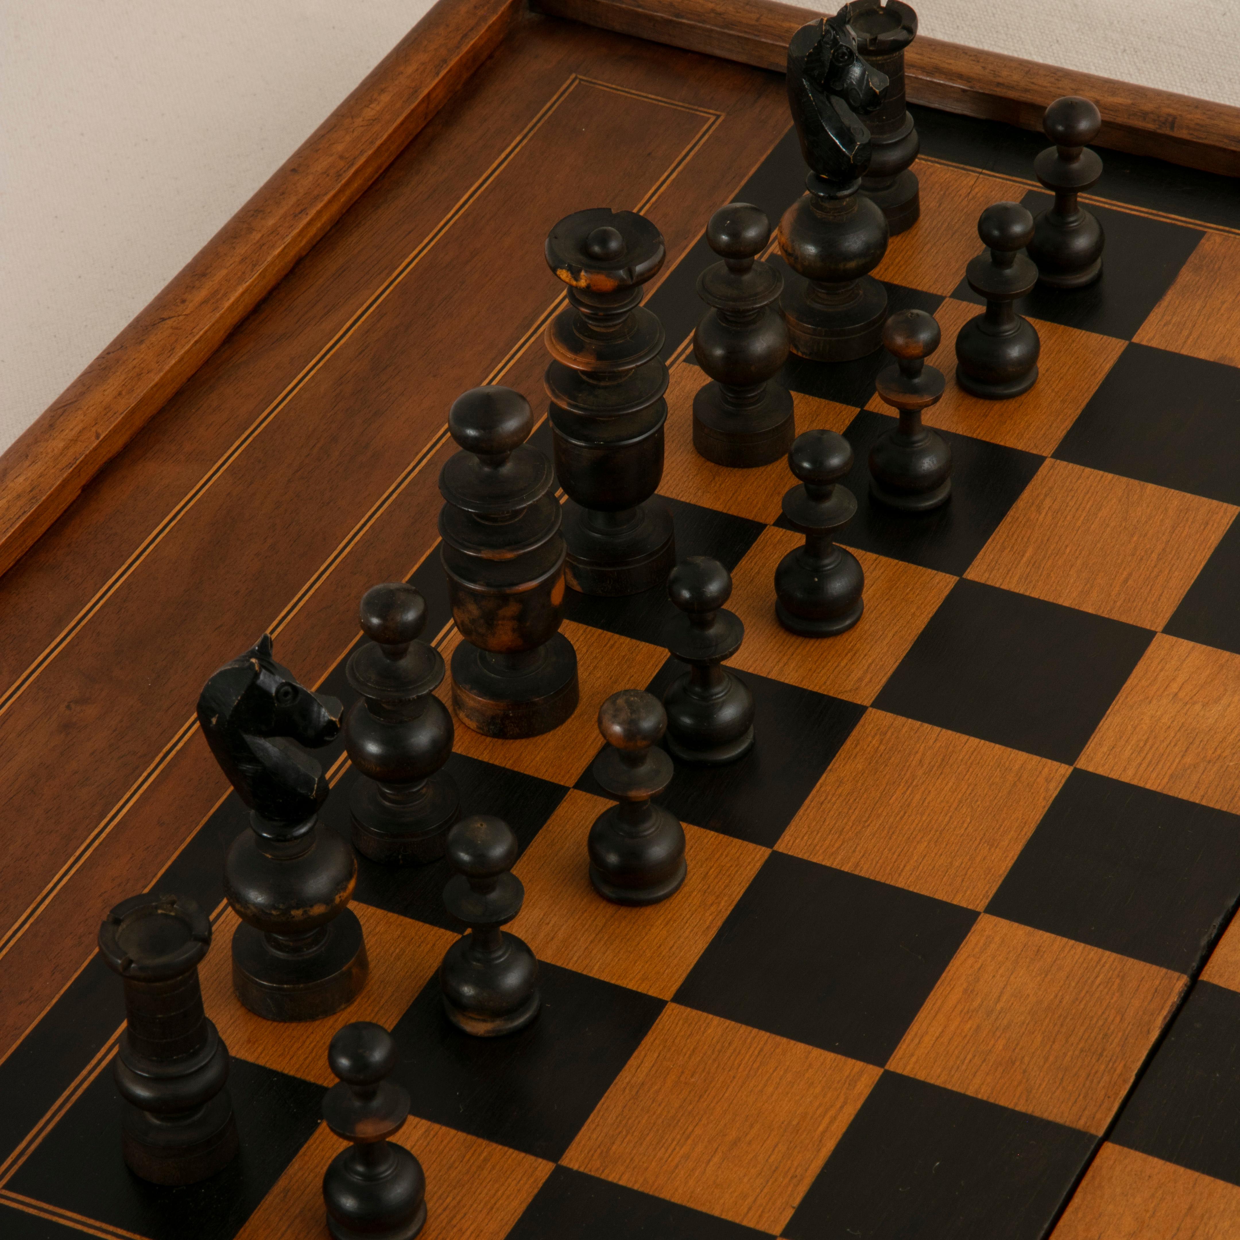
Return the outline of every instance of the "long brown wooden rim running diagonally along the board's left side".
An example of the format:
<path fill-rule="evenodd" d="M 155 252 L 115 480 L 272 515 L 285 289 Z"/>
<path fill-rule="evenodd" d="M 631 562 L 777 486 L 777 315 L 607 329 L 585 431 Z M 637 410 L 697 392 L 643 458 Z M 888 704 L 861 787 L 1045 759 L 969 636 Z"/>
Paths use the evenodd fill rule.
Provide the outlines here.
<path fill-rule="evenodd" d="M 521 0 L 439 0 L 0 456 L 0 573 L 159 412 L 503 38 Z"/>

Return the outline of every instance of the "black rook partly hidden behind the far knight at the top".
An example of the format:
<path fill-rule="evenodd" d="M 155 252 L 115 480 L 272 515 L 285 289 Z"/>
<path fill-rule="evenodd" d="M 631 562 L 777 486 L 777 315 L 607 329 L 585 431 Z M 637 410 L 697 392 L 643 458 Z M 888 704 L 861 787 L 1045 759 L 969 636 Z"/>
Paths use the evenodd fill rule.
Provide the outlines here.
<path fill-rule="evenodd" d="M 874 154 L 861 192 L 883 208 L 894 237 L 921 213 L 918 176 L 909 166 L 921 143 L 904 97 L 904 51 L 916 37 L 918 15 L 903 0 L 851 0 L 838 16 L 857 36 L 857 51 L 888 81 L 882 104 L 866 118 Z"/>

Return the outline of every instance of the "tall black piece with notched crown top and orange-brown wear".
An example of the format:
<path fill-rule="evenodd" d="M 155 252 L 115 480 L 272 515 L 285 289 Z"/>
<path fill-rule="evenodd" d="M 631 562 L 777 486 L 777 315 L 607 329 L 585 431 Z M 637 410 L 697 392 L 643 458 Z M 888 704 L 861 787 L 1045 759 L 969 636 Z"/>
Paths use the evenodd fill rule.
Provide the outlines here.
<path fill-rule="evenodd" d="M 634 211 L 595 207 L 560 219 L 546 253 L 568 285 L 546 336 L 565 580 L 583 594 L 637 594 L 676 562 L 671 510 L 652 498 L 667 420 L 663 326 L 641 305 L 663 238 Z"/>

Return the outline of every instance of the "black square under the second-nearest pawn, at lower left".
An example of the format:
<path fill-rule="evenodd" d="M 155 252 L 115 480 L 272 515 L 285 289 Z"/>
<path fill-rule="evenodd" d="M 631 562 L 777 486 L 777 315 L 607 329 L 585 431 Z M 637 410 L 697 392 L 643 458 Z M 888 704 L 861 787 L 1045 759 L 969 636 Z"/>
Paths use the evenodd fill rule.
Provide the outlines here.
<path fill-rule="evenodd" d="M 413 1114 L 558 1159 L 663 1009 L 585 973 L 538 966 L 542 1012 L 503 1038 L 471 1038 L 444 1016 L 439 980 L 392 1030 Z"/>

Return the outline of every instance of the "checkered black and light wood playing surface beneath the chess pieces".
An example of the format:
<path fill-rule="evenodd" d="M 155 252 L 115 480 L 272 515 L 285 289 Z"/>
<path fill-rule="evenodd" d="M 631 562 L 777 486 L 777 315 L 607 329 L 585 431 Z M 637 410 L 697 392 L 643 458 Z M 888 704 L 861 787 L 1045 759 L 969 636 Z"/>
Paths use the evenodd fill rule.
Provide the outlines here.
<path fill-rule="evenodd" d="M 678 553 L 733 572 L 733 666 L 758 703 L 749 756 L 678 766 L 662 797 L 686 823 L 683 890 L 605 904 L 584 853 L 606 804 L 589 775 L 598 706 L 668 682 L 670 605 L 569 593 L 578 712 L 526 742 L 459 727 L 449 764 L 465 810 L 520 837 L 510 929 L 542 961 L 538 1021 L 496 1040 L 451 1029 L 434 976 L 456 932 L 445 866 L 365 859 L 363 994 L 305 1025 L 249 1016 L 221 904 L 244 828 L 228 797 L 160 888 L 216 910 L 202 981 L 234 1056 L 239 1161 L 187 1189 L 128 1174 L 107 1070 L 120 987 L 95 960 L 0 1065 L 6 1240 L 326 1235 L 326 1045 L 352 1019 L 401 1047 L 428 1240 L 1240 1234 L 1240 930 L 1220 940 L 1240 899 L 1240 200 L 1104 151 L 1104 279 L 1021 308 L 1042 377 L 987 403 L 951 383 L 976 312 L 962 273 L 982 207 L 1045 201 L 1027 180 L 1044 143 L 916 115 L 923 218 L 877 274 L 893 309 L 942 327 L 930 362 L 947 394 L 926 420 L 951 443 L 950 505 L 869 503 L 883 355 L 785 376 L 799 429 L 856 450 L 841 541 L 867 588 L 847 635 L 775 622 L 774 567 L 797 543 L 777 520 L 786 469 L 692 451 L 704 242 L 650 301 L 672 361 L 661 494 Z M 773 143 L 734 197 L 774 221 L 804 169 L 791 133 Z M 412 580 L 446 653 L 435 548 Z M 343 658 L 321 687 L 350 699 Z M 327 761 L 325 816 L 347 833 L 355 776 L 339 743 Z"/>

